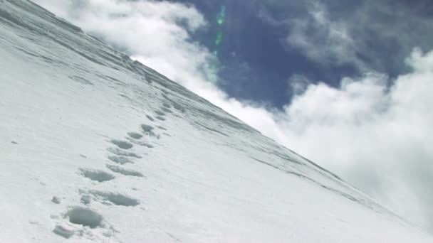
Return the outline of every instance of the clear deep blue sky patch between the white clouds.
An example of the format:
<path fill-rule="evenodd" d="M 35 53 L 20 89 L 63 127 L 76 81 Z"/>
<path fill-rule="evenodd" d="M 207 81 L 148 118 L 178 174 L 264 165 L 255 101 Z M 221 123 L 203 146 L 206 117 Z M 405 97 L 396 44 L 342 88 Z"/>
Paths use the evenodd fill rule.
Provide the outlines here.
<path fill-rule="evenodd" d="M 220 60 L 219 87 L 241 99 L 270 102 L 282 107 L 291 97 L 288 78 L 296 72 L 316 78 L 319 68 L 301 53 L 286 50 L 285 31 L 272 28 L 259 16 L 259 7 L 246 1 L 190 1 L 207 18 L 209 27 L 194 38 L 210 50 L 217 50 Z M 223 25 L 217 16 L 223 6 Z M 219 31 L 221 44 L 215 46 Z"/>

